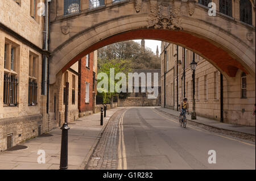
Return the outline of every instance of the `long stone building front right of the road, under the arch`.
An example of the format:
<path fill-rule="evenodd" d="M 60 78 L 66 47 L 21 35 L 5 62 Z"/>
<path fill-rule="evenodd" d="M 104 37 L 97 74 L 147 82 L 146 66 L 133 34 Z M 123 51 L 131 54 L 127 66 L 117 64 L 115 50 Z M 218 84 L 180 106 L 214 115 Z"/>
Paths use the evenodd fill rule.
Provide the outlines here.
<path fill-rule="evenodd" d="M 193 52 L 188 49 L 183 50 L 183 47 L 163 41 L 160 55 L 162 66 L 162 107 L 164 107 L 164 48 L 166 48 L 165 107 L 177 110 L 177 104 L 180 104 L 184 98 L 185 91 L 185 97 L 188 98 L 188 103 L 190 104 L 189 111 L 192 111 L 192 70 L 189 64 L 192 61 Z M 185 51 L 185 54 L 183 54 L 183 51 Z M 197 54 L 195 54 L 195 61 L 197 62 L 195 70 L 196 114 L 220 121 L 221 72 Z M 185 68 L 185 78 L 183 66 Z M 255 117 L 252 114 L 254 104 L 255 78 L 250 74 L 243 73 L 242 70 L 237 71 L 236 77 L 223 76 L 224 123 L 255 126 Z"/>

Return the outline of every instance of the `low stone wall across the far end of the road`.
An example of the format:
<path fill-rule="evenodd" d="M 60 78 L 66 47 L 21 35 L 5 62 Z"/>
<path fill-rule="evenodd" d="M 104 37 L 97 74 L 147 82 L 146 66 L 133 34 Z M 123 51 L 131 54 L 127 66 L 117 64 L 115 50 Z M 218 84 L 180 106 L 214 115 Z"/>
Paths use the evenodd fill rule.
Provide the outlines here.
<path fill-rule="evenodd" d="M 160 106 L 158 99 L 147 99 L 141 97 L 128 97 L 126 99 L 120 99 L 121 107 L 129 106 Z"/>

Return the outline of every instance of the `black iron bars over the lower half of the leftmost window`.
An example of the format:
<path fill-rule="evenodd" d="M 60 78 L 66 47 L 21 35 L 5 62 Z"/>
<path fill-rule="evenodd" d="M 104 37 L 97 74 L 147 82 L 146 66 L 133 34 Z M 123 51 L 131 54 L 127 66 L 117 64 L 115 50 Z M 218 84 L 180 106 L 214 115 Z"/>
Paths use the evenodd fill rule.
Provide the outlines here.
<path fill-rule="evenodd" d="M 5 74 L 3 83 L 3 104 L 6 106 L 16 106 L 18 78 L 16 75 Z"/>

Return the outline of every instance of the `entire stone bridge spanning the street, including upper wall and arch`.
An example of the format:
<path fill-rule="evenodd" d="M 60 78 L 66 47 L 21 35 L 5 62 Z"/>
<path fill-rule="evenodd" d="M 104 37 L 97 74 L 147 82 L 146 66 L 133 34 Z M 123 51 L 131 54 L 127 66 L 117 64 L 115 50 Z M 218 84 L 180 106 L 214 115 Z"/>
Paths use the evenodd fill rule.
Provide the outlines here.
<path fill-rule="evenodd" d="M 78 9 L 67 9 L 65 1 L 51 1 L 50 84 L 89 52 L 132 39 L 168 41 L 193 50 L 225 77 L 235 77 L 240 69 L 255 79 L 254 0 L 251 25 L 240 22 L 238 0 L 232 1 L 232 17 L 218 11 L 218 0 L 212 1 L 216 16 L 195 0 L 77 2 Z"/>

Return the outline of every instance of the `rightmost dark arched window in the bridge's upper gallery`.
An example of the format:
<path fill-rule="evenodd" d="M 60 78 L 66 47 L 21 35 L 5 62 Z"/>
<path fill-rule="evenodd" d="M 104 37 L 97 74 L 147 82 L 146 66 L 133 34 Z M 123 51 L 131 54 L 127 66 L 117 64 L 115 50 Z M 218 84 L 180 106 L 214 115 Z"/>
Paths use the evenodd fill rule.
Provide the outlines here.
<path fill-rule="evenodd" d="M 240 21 L 252 24 L 251 2 L 250 0 L 240 0 Z"/>

